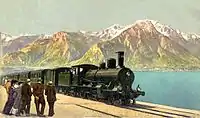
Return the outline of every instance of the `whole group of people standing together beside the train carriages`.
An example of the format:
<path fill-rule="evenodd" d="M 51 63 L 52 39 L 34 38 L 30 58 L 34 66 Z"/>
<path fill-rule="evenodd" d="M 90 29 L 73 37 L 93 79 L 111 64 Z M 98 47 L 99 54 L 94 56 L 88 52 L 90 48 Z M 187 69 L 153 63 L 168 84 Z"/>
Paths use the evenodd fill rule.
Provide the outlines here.
<path fill-rule="evenodd" d="M 37 116 L 44 116 L 45 94 L 49 105 L 48 116 L 54 115 L 56 89 L 52 85 L 52 81 L 49 81 L 45 86 L 41 83 L 41 79 L 38 79 L 37 83 L 33 84 L 31 84 L 30 79 L 27 79 L 24 83 L 17 80 L 8 80 L 4 87 L 8 93 L 8 99 L 3 109 L 4 114 L 30 116 L 31 97 L 33 95 Z"/>

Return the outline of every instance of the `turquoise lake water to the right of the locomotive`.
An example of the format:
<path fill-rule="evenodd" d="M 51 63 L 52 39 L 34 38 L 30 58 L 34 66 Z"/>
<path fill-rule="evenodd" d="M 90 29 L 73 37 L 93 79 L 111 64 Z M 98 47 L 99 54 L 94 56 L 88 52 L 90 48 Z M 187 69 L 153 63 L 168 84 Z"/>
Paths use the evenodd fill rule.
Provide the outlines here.
<path fill-rule="evenodd" d="M 135 72 L 137 84 L 145 91 L 139 101 L 200 110 L 200 72 Z"/>

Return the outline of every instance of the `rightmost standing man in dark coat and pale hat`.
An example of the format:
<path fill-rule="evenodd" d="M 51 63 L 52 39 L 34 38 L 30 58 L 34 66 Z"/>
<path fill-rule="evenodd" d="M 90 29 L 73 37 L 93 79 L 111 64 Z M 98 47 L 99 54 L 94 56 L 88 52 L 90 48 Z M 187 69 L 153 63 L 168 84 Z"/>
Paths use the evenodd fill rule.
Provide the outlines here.
<path fill-rule="evenodd" d="M 47 96 L 47 102 L 49 104 L 49 114 L 48 116 L 54 115 L 54 103 L 56 101 L 56 89 L 55 86 L 52 85 L 52 81 L 49 81 L 46 89 L 45 95 Z"/>

